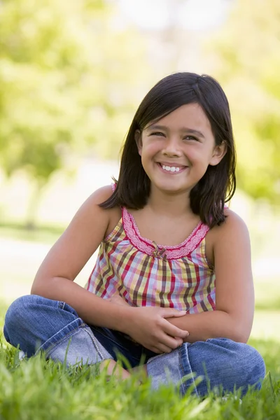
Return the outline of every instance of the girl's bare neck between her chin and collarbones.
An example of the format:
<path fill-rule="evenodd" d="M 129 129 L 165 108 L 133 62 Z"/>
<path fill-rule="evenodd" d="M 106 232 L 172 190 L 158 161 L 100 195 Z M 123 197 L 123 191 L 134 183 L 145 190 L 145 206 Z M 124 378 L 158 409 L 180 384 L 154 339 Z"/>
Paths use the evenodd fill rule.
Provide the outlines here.
<path fill-rule="evenodd" d="M 172 215 L 174 217 L 193 215 L 190 209 L 189 192 L 168 194 L 151 187 L 148 207 L 157 214 Z"/>

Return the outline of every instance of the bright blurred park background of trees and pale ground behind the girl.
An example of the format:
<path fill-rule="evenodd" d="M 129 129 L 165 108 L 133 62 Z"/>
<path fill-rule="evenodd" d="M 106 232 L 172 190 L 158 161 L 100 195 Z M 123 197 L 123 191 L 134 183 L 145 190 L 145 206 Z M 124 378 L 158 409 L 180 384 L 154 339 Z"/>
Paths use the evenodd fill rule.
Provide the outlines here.
<path fill-rule="evenodd" d="M 279 0 L 1 0 L 3 307 L 29 293 L 83 201 L 118 178 L 120 148 L 148 90 L 175 71 L 209 73 L 232 112 L 230 205 L 251 232 L 252 335 L 280 342 L 279 68 Z"/>

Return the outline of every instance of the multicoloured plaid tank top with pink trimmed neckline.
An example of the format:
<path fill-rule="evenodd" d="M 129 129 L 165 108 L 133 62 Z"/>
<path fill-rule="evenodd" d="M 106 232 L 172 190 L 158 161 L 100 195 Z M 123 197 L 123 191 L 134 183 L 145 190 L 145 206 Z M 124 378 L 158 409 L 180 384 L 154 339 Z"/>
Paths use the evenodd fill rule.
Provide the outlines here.
<path fill-rule="evenodd" d="M 122 218 L 99 248 L 87 290 L 104 299 L 118 293 L 132 306 L 159 306 L 189 314 L 215 309 L 214 268 L 205 255 L 209 227 L 200 222 L 177 246 L 141 237 L 132 214 Z"/>

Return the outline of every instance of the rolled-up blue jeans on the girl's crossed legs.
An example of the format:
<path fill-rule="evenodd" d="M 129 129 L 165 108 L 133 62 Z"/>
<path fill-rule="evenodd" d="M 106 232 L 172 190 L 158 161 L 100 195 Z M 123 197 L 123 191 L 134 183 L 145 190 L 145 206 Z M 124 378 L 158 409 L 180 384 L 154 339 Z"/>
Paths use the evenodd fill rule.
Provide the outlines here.
<path fill-rule="evenodd" d="M 172 382 L 182 395 L 190 386 L 200 396 L 219 388 L 223 393 L 241 388 L 244 394 L 248 386 L 259 389 L 265 376 L 262 357 L 248 344 L 214 338 L 158 355 L 122 332 L 87 325 L 65 302 L 36 295 L 19 297 L 10 305 L 4 335 L 28 357 L 44 351 L 46 358 L 62 363 L 66 359 L 68 365 L 117 360 L 118 353 L 132 367 L 144 361 L 153 388 Z M 201 377 L 200 383 L 195 377 Z"/>

